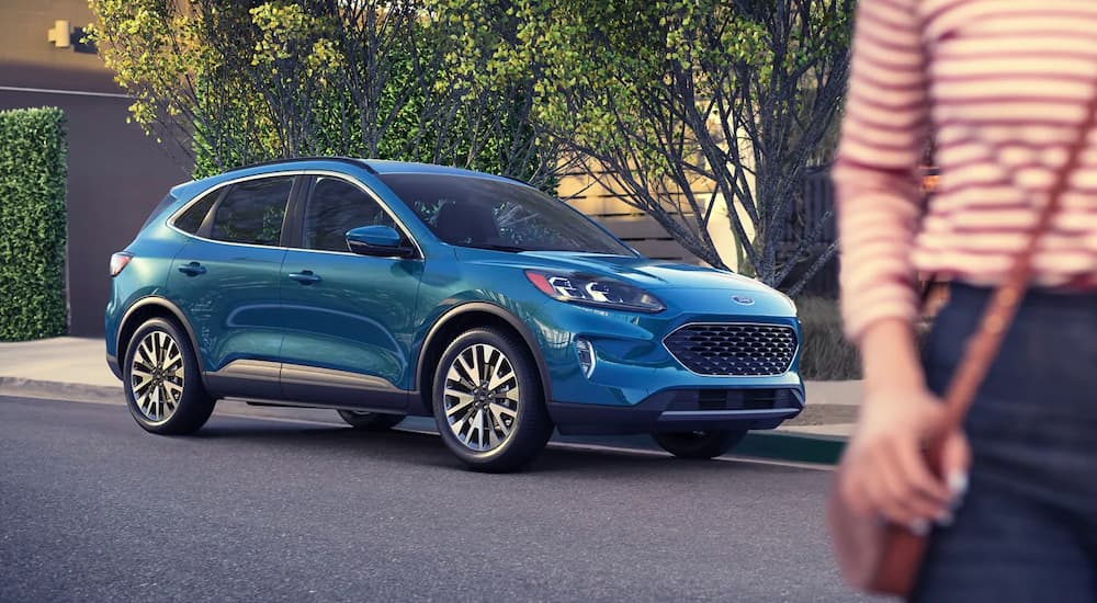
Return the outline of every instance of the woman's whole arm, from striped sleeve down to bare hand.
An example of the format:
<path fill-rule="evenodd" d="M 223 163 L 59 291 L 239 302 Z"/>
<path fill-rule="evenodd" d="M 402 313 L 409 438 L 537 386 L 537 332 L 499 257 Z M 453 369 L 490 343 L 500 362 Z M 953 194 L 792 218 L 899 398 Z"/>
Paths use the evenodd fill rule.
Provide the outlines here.
<path fill-rule="evenodd" d="M 921 214 L 918 162 L 929 127 L 928 55 L 915 5 L 915 0 L 858 4 L 834 179 L 842 315 L 864 369 L 864 400 L 846 452 L 841 493 L 862 512 L 925 531 L 929 520 L 948 520 L 968 448 L 961 433 L 938 433 L 942 405 L 926 389 L 913 328 L 911 252 Z M 921 452 L 928 439 L 941 435 L 950 483 L 929 471 Z"/>

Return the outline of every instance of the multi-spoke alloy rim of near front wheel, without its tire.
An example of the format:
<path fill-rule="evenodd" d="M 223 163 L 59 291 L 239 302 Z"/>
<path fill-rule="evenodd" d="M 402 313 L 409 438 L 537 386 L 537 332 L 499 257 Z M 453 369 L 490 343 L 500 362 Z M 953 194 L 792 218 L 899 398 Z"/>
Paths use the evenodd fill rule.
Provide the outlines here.
<path fill-rule="evenodd" d="M 475 343 L 462 350 L 446 371 L 443 397 L 445 420 L 465 447 L 493 451 L 513 434 L 521 388 L 499 349 Z"/>

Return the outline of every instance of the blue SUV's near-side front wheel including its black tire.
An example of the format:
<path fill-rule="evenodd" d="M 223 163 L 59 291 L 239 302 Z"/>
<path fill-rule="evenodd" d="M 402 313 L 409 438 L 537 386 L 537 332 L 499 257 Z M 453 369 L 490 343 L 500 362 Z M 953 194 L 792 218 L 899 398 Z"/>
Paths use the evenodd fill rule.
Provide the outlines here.
<path fill-rule="evenodd" d="M 536 364 L 525 342 L 508 332 L 479 328 L 456 338 L 438 363 L 432 389 L 442 441 L 471 469 L 518 469 L 552 435 Z"/>

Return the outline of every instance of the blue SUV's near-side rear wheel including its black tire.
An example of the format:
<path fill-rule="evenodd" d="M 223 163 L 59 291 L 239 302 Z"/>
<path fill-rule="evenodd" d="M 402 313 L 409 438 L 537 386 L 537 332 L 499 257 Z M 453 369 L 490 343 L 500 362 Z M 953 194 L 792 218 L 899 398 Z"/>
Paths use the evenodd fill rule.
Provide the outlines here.
<path fill-rule="evenodd" d="M 216 400 L 202 385 L 191 341 L 174 322 L 152 318 L 126 346 L 122 365 L 126 406 L 137 424 L 163 435 L 194 433 Z"/>

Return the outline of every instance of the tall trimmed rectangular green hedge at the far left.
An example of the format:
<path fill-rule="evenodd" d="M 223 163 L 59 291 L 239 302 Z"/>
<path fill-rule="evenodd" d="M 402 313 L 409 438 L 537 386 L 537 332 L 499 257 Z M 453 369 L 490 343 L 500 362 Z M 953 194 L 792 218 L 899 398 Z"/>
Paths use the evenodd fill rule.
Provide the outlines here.
<path fill-rule="evenodd" d="M 64 334 L 65 114 L 0 111 L 0 341 Z"/>

